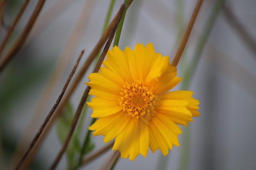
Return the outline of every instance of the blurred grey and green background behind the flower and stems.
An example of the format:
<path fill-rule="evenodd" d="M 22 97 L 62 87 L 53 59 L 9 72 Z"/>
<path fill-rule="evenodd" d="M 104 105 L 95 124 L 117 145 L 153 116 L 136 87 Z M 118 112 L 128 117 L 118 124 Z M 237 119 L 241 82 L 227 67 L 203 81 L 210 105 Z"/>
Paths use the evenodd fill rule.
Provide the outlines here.
<path fill-rule="evenodd" d="M 24 1 L 6 1 L 1 11 L 0 42 Z M 116 0 L 111 20 L 122 2 Z M 120 49 L 126 46 L 133 49 L 136 43 L 153 43 L 155 51 L 168 55 L 171 62 L 196 2 L 134 0 L 124 20 Z M 24 30 L 36 4 L 37 1 L 29 2 L 0 62 Z M 27 133 L 30 135 L 25 136 L 21 148 L 28 146 L 58 98 L 82 49 L 86 52 L 81 63 L 86 61 L 102 35 L 109 4 L 110 0 L 46 0 L 22 49 L 0 72 L 0 169 L 17 162 L 13 154 Z M 255 9 L 255 0 L 204 0 L 177 66 L 179 77 L 184 77 L 184 70 L 191 65 L 193 74 L 188 83 L 183 86 L 181 83 L 174 89 L 193 91 L 193 97 L 200 101 L 201 115 L 188 123 L 188 127 L 182 127 L 184 133 L 178 137 L 180 147 L 173 147 L 168 156 L 161 156 L 159 150 L 154 154 L 149 150 L 146 158 L 139 155 L 133 162 L 119 159 L 115 169 L 256 169 Z M 86 88 L 83 82 L 88 82 L 92 68 L 72 95 L 70 103 L 74 110 Z M 52 90 L 50 94 L 46 93 L 48 90 Z M 42 101 L 42 98 L 47 100 Z M 82 124 L 81 143 L 90 122 L 90 112 L 88 110 Z M 49 168 L 62 146 L 57 135 L 60 131 L 62 129 L 58 130 L 58 125 L 54 124 L 30 169 Z M 92 142 L 94 150 L 106 145 L 102 136 L 92 137 Z M 188 151 L 184 151 L 186 143 Z M 111 154 L 108 151 L 80 169 L 102 168 Z M 180 163 L 182 159 L 188 159 L 186 166 Z M 66 167 L 66 156 L 63 156 L 57 169 Z"/>

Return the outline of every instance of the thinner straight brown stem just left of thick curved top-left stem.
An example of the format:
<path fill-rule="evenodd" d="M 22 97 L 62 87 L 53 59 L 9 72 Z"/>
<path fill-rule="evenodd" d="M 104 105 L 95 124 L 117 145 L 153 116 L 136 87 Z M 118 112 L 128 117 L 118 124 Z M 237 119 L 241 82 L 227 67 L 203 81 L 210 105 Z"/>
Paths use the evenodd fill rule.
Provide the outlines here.
<path fill-rule="evenodd" d="M 4 37 L 4 40 L 2 41 L 2 44 L 0 46 L 0 58 L 1 58 L 1 54 L 2 51 L 4 49 L 4 46 L 6 45 L 7 40 L 9 39 L 10 35 L 12 34 L 12 31 L 14 30 L 14 27 L 17 25 L 18 21 L 20 20 L 20 17 L 22 16 L 24 10 L 26 9 L 27 5 L 28 5 L 29 0 L 26 0 L 24 2 L 24 4 L 22 5 L 20 12 L 18 13 L 17 17 L 15 18 L 14 22 L 12 23 L 10 29 L 8 30 L 8 33 L 6 34 L 6 36 Z"/>

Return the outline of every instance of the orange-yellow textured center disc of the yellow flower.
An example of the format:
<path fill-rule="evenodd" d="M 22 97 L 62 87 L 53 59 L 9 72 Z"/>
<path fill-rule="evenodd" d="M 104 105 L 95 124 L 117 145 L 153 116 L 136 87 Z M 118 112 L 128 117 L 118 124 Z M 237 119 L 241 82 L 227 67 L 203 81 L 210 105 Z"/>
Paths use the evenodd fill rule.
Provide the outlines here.
<path fill-rule="evenodd" d="M 143 86 L 142 80 L 136 80 L 132 84 L 126 82 L 121 91 L 122 97 L 118 102 L 127 115 L 135 119 L 144 117 L 147 120 L 154 116 L 158 96 L 152 93 L 152 88 Z"/>

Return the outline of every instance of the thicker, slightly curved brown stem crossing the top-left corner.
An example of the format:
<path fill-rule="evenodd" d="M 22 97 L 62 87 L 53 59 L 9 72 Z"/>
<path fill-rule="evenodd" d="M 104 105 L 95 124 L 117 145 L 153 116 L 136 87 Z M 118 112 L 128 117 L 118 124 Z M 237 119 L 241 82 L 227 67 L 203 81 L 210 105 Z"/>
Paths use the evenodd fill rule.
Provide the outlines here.
<path fill-rule="evenodd" d="M 20 35 L 20 37 L 16 41 L 16 43 L 13 45 L 13 47 L 10 49 L 10 52 L 3 59 L 2 63 L 0 63 L 0 72 L 3 70 L 3 68 L 6 66 L 6 64 L 8 64 L 8 62 L 14 57 L 14 55 L 22 47 L 22 45 L 25 42 L 26 38 L 28 37 L 28 34 L 30 33 L 34 23 L 36 22 L 36 19 L 44 5 L 44 2 L 45 2 L 45 0 L 38 1 L 36 8 L 34 9 L 32 16 L 30 17 L 30 20 L 28 21 L 26 27 L 24 28 L 24 31 L 22 32 L 22 34 Z"/>

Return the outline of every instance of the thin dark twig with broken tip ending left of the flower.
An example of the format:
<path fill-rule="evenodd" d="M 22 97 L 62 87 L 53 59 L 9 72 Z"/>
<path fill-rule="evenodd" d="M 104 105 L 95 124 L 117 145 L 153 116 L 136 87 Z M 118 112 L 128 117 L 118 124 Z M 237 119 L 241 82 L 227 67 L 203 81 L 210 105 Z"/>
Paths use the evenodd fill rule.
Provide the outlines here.
<path fill-rule="evenodd" d="M 56 103 L 54 104 L 54 106 L 52 107 L 52 109 L 50 110 L 50 112 L 48 113 L 47 117 L 44 119 L 44 122 L 42 123 L 41 127 L 39 128 L 38 132 L 36 133 L 34 139 L 31 141 L 28 149 L 26 150 L 26 152 L 23 154 L 22 158 L 20 159 L 20 161 L 18 162 L 18 164 L 16 165 L 15 167 L 15 170 L 18 170 L 22 164 L 22 162 L 25 160 L 26 156 L 28 155 L 28 153 L 30 152 L 30 150 L 34 147 L 36 141 L 38 140 L 38 138 L 40 137 L 42 131 L 44 130 L 44 127 L 46 126 L 46 124 L 48 123 L 48 121 L 50 120 L 52 114 L 54 113 L 56 107 L 58 106 L 58 104 L 60 103 L 60 100 L 62 99 L 67 87 L 68 87 L 68 84 L 72 78 L 72 76 L 74 75 L 75 71 L 76 71 L 76 68 L 79 64 L 79 61 L 82 57 L 82 55 L 84 54 L 84 50 L 81 51 L 77 61 L 76 61 L 76 64 L 74 66 L 74 68 L 72 69 L 72 72 L 70 73 L 70 75 L 68 76 L 68 79 L 62 89 L 62 92 L 60 93 L 60 96 L 58 97 Z"/>

